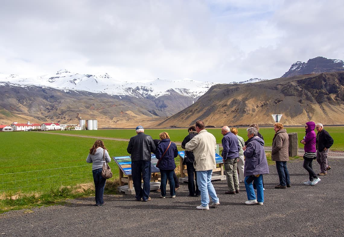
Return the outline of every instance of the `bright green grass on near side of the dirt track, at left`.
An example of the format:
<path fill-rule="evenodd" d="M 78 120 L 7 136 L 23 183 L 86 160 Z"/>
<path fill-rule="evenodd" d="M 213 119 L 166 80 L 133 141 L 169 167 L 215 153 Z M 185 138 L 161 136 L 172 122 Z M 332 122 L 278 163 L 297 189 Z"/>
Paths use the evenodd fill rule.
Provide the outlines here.
<path fill-rule="evenodd" d="M 93 182 L 86 163 L 94 138 L 40 132 L 1 133 L 1 192 L 44 192 L 60 186 Z M 110 156 L 127 154 L 128 142 L 104 140 Z M 111 162 L 115 166 L 115 162 Z M 116 168 L 116 167 L 114 167 Z M 114 170 L 116 173 L 116 169 Z M 117 176 L 118 177 L 118 176 Z"/>

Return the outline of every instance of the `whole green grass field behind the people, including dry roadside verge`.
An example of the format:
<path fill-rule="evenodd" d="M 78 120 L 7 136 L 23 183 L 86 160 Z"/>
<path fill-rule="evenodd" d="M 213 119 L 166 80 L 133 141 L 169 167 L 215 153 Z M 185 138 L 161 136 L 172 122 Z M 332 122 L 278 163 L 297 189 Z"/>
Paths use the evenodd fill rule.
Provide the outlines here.
<path fill-rule="evenodd" d="M 332 150 L 344 150 L 342 127 L 325 128 L 334 139 Z M 239 136 L 247 139 L 245 128 L 239 128 Z M 159 138 L 159 133 L 166 131 L 171 140 L 181 142 L 187 135 L 187 129 L 146 129 L 145 133 Z M 208 129 L 221 144 L 221 128 Z M 287 128 L 288 132 L 297 132 L 299 140 L 304 136 L 304 128 Z M 106 138 L 126 138 L 135 136 L 135 130 L 90 130 L 90 131 L 49 131 L 54 133 L 79 134 L 101 138 L 111 157 L 128 155 L 127 141 L 107 140 Z M 272 128 L 261 128 L 266 146 L 271 146 L 274 131 Z M 1 132 L 0 142 L 3 144 L 0 154 L 0 212 L 8 209 L 49 205 L 63 198 L 73 198 L 82 195 L 94 195 L 92 164 L 86 163 L 89 148 L 96 138 L 70 137 L 49 134 L 47 132 Z M 303 147 L 299 143 L 299 147 Z M 178 150 L 182 150 L 177 146 Z M 221 154 L 221 149 L 220 149 Z M 271 164 L 271 152 L 267 152 Z M 176 158 L 179 165 L 179 158 Z M 115 192 L 118 167 L 110 162 L 114 177 L 107 185 L 105 192 Z M 78 185 L 87 184 L 81 188 L 80 194 L 73 191 Z M 80 189 L 80 188 L 79 188 Z M 17 197 L 16 197 L 17 196 Z M 21 196 L 21 197 L 20 197 Z M 45 200 L 45 201 L 43 201 Z"/>

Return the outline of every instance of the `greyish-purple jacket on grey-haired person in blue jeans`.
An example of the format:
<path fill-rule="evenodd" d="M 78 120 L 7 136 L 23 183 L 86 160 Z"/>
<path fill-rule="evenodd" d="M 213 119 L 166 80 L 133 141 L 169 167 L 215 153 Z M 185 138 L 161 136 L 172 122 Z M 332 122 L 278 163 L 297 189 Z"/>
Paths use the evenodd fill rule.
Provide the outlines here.
<path fill-rule="evenodd" d="M 244 176 L 268 174 L 269 166 L 266 160 L 264 141 L 258 136 L 251 138 L 244 151 L 245 172 Z"/>

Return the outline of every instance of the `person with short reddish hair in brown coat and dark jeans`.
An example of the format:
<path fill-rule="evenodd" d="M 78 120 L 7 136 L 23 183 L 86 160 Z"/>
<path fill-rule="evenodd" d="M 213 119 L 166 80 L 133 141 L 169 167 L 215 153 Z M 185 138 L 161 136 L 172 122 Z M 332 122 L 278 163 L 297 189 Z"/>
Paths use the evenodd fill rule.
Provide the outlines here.
<path fill-rule="evenodd" d="M 272 139 L 271 159 L 276 161 L 280 181 L 275 188 L 287 188 L 290 187 L 290 177 L 287 168 L 287 161 L 289 161 L 289 137 L 287 130 L 283 128 L 283 124 L 280 122 L 273 125 L 273 130 L 275 130 L 275 136 Z"/>

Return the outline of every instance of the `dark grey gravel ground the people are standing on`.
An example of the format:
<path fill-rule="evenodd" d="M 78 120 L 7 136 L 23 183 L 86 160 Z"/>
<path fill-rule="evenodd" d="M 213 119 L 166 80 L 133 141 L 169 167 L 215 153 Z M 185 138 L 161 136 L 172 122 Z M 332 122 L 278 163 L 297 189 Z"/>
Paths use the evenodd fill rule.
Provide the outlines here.
<path fill-rule="evenodd" d="M 264 176 L 263 206 L 245 205 L 241 192 L 226 195 L 225 181 L 213 182 L 221 205 L 209 211 L 195 209 L 200 198 L 188 197 L 182 184 L 176 198 L 149 202 L 134 195 L 105 195 L 105 206 L 95 207 L 94 197 L 68 200 L 32 210 L 0 215 L 1 236 L 344 236 L 343 160 L 331 158 L 332 169 L 315 186 L 302 185 L 308 173 L 301 161 L 288 163 L 292 187 L 275 189 L 275 166 Z M 313 163 L 315 171 L 319 165 Z M 91 175 L 91 173 L 90 173 Z"/>

